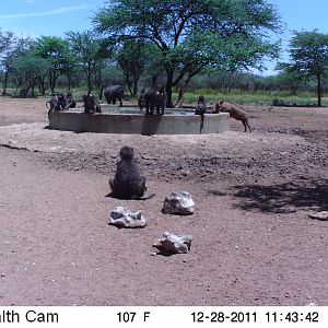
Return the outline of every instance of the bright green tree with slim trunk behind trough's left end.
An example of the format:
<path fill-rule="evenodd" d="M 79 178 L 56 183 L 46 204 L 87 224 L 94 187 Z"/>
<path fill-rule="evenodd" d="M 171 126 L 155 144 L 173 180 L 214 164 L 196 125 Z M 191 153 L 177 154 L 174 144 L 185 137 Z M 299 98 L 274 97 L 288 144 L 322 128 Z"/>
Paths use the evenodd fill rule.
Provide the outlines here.
<path fill-rule="evenodd" d="M 54 93 L 57 79 L 71 70 L 74 65 L 69 43 L 56 36 L 42 36 L 36 40 L 33 51 L 35 56 L 47 59 L 51 63 L 48 77 L 50 90 Z"/>

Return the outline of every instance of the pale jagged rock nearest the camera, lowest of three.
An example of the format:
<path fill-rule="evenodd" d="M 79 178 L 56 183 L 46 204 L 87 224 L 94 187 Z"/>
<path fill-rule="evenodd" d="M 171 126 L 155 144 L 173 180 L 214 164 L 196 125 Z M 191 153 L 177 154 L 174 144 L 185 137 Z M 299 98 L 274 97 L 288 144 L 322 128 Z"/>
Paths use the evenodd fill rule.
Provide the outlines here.
<path fill-rule="evenodd" d="M 153 247 L 157 248 L 161 254 L 187 254 L 191 247 L 192 236 L 183 235 L 177 236 L 175 234 L 165 232 L 163 237 L 160 238 Z"/>

